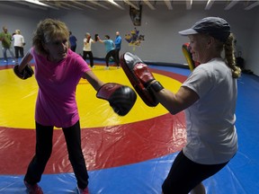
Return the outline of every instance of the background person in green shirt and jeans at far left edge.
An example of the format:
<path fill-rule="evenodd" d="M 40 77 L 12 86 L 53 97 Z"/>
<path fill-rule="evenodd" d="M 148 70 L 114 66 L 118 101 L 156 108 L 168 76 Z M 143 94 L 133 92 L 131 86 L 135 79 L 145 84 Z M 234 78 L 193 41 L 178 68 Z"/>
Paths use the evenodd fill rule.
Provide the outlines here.
<path fill-rule="evenodd" d="M 2 41 L 2 49 L 4 55 L 4 63 L 8 61 L 6 52 L 9 50 L 11 57 L 13 58 L 13 63 L 15 62 L 13 56 L 13 49 L 12 49 L 12 35 L 8 32 L 8 29 L 4 26 L 3 31 L 0 33 L 0 40 Z"/>

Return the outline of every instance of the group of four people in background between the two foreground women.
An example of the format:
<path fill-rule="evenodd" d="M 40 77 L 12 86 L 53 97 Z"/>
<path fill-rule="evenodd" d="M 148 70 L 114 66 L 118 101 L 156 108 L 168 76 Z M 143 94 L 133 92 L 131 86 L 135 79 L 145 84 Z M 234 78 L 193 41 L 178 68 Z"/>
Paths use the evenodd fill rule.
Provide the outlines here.
<path fill-rule="evenodd" d="M 90 66 L 94 68 L 94 55 L 92 52 L 92 43 L 99 41 L 104 44 L 104 47 L 106 50 L 105 69 L 109 69 L 109 62 L 111 57 L 113 58 L 117 68 L 120 68 L 120 50 L 121 50 L 120 31 L 116 31 L 116 38 L 114 41 L 110 39 L 109 35 L 104 36 L 105 40 L 101 40 L 99 36 L 97 37 L 98 38 L 93 40 L 89 32 L 85 33 L 83 56 L 82 56 L 84 60 L 86 60 L 86 58 L 88 57 L 90 60 Z M 70 49 L 74 52 L 76 52 L 76 41 L 77 41 L 76 37 L 70 31 L 70 36 L 69 36 Z"/>

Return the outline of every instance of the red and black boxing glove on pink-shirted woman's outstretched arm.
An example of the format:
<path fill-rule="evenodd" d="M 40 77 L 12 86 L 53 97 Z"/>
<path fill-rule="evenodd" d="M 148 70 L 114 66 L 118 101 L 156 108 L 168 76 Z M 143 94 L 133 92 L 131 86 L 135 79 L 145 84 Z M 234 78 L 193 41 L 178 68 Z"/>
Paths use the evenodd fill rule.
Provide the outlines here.
<path fill-rule="evenodd" d="M 114 112 L 120 116 L 128 114 L 137 100 L 137 94 L 130 87 L 115 83 L 103 84 L 96 97 L 109 101 Z"/>

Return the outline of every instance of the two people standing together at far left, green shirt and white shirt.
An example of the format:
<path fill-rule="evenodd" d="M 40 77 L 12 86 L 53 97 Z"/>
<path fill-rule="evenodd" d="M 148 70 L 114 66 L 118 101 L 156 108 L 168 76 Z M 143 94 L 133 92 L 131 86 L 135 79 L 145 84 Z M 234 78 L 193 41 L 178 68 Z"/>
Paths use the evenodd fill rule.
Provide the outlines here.
<path fill-rule="evenodd" d="M 3 31 L 0 33 L 0 40 L 2 42 L 2 50 L 4 56 L 4 62 L 7 63 L 7 50 L 9 51 L 13 63 L 18 63 L 18 58 L 23 57 L 23 47 L 25 45 L 24 37 L 20 30 L 16 30 L 12 35 L 8 32 L 6 26 L 3 27 Z M 12 42 L 15 52 L 15 57 L 13 55 Z"/>

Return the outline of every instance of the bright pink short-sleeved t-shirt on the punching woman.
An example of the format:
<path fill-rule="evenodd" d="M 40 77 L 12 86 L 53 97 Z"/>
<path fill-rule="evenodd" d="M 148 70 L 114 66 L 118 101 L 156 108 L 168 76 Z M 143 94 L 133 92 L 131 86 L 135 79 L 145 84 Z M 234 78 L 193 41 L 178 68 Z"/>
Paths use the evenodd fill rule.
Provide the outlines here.
<path fill-rule="evenodd" d="M 76 104 L 76 85 L 90 71 L 85 60 L 68 50 L 67 57 L 58 63 L 31 48 L 35 61 L 35 78 L 39 85 L 35 120 L 44 126 L 68 128 L 79 119 Z"/>

